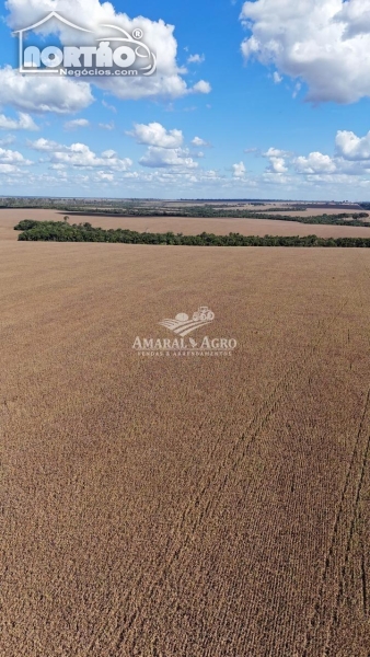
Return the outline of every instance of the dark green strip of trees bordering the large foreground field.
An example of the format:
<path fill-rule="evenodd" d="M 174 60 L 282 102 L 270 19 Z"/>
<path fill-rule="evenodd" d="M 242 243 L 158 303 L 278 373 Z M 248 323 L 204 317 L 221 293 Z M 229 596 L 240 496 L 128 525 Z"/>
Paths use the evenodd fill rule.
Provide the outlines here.
<path fill-rule="evenodd" d="M 182 233 L 140 233 L 134 230 L 104 230 L 94 228 L 91 223 L 70 226 L 67 221 L 33 221 L 25 219 L 15 226 L 14 230 L 23 231 L 19 241 L 25 242 L 109 242 L 122 244 L 169 244 L 178 246 L 340 246 L 370 249 L 370 238 L 329 238 L 325 240 L 317 235 L 277 237 L 215 235 L 203 232 L 199 235 Z"/>

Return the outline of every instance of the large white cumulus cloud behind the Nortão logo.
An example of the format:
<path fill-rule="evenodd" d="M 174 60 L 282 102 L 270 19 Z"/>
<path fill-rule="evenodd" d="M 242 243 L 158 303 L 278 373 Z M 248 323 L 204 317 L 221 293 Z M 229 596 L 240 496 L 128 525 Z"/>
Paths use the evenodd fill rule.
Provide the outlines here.
<path fill-rule="evenodd" d="M 210 91 L 209 83 L 203 80 L 194 87 L 187 85 L 183 78 L 186 71 L 181 69 L 176 61 L 177 42 L 174 36 L 174 26 L 166 24 L 163 20 L 151 21 L 144 16 L 130 19 L 125 13 L 116 12 L 111 2 L 101 3 L 100 0 L 79 0 L 79 2 L 76 0 L 8 0 L 7 8 L 10 12 L 8 23 L 14 30 L 34 24 L 53 10 L 60 12 L 73 24 L 94 32 L 102 33 L 102 25 L 107 24 L 122 27 L 129 33 L 137 27 L 141 28 L 146 44 L 157 54 L 157 74 L 148 78 L 115 77 L 114 79 L 92 78 L 90 80 L 92 84 L 109 91 L 119 99 L 180 97 L 188 93 L 209 93 Z M 76 39 L 76 31 L 62 23 L 59 23 L 57 28 L 63 45 L 80 45 L 72 43 L 73 38 Z M 39 33 L 44 36 L 55 33 L 55 31 L 56 23 L 54 21 L 39 27 Z M 102 33 L 102 36 L 105 34 Z M 81 33 L 80 38 L 82 39 L 81 45 L 83 45 L 91 37 Z"/>

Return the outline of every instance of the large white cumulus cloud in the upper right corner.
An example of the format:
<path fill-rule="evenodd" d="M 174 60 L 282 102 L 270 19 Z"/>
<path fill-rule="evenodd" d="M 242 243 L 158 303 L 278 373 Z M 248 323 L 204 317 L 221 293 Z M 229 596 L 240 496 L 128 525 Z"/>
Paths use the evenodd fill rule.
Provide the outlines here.
<path fill-rule="evenodd" d="M 370 95 L 368 0 L 256 0 L 241 20 L 246 60 L 308 84 L 308 100 L 354 103 Z M 276 79 L 275 79 L 276 81 Z"/>

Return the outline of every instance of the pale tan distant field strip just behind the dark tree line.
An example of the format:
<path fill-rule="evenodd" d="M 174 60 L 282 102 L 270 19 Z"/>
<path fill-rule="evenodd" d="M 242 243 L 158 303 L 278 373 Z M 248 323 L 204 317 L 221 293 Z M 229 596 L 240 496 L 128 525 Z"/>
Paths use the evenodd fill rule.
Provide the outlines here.
<path fill-rule="evenodd" d="M 22 219 L 41 221 L 60 221 L 65 214 L 55 210 L 0 210 L 0 239 L 16 240 L 19 233 L 13 230 Z M 370 228 L 350 226 L 303 224 L 294 221 L 266 219 L 196 219 L 178 217 L 95 217 L 69 215 L 70 223 L 89 221 L 102 228 L 128 228 L 138 232 L 182 232 L 198 234 L 203 231 L 224 235 L 240 232 L 245 235 L 310 235 L 322 238 L 370 238 Z"/>

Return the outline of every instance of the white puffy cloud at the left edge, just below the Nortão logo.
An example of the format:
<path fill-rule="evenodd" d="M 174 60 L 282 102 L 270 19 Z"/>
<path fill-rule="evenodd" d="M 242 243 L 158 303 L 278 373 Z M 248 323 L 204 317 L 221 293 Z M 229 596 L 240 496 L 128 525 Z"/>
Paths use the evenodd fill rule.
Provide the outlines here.
<path fill-rule="evenodd" d="M 0 68 L 0 105 L 12 105 L 24 112 L 70 114 L 93 102 L 90 85 L 51 76 L 21 76 L 10 66 Z"/>

